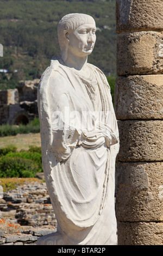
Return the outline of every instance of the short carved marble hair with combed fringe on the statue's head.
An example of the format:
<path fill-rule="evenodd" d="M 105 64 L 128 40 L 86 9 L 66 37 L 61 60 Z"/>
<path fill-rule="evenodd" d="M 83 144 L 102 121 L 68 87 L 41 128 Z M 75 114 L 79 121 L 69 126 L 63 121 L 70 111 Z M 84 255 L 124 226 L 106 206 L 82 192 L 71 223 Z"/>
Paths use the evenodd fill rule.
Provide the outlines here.
<path fill-rule="evenodd" d="M 62 50 L 66 44 L 64 32 L 72 33 L 79 26 L 86 23 L 95 25 L 95 20 L 90 15 L 78 13 L 67 14 L 62 17 L 58 24 L 58 41 L 60 50 Z"/>

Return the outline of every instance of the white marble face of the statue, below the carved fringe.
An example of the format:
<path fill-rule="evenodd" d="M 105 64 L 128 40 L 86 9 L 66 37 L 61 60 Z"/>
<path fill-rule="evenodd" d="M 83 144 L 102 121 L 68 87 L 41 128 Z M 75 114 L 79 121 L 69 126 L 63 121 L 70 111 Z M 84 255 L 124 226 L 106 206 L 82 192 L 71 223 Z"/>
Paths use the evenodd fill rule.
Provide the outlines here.
<path fill-rule="evenodd" d="M 67 35 L 68 51 L 78 57 L 85 57 L 93 51 L 96 42 L 96 26 L 84 24 Z"/>

